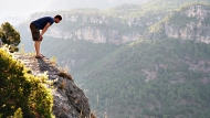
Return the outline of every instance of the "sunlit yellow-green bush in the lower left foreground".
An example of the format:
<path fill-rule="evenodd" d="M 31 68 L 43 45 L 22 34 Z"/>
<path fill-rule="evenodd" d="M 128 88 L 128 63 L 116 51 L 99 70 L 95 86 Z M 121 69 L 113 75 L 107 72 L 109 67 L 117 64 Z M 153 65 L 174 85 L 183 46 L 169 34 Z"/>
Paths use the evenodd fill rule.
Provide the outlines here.
<path fill-rule="evenodd" d="M 0 49 L 0 117 L 52 118 L 52 94 L 46 77 L 28 74 L 23 64 Z"/>

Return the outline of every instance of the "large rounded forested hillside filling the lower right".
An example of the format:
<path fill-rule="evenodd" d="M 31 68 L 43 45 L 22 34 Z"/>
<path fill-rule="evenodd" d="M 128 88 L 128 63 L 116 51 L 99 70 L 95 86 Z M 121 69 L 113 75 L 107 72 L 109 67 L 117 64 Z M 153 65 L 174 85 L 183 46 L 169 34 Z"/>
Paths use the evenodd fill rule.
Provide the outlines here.
<path fill-rule="evenodd" d="M 210 45 L 192 41 L 141 41 L 81 68 L 75 78 L 90 90 L 86 95 L 92 107 L 112 118 L 207 118 L 210 86 L 202 79 L 210 74 L 200 68 L 210 67 L 209 53 Z M 193 65 L 201 67 L 191 69 Z"/>

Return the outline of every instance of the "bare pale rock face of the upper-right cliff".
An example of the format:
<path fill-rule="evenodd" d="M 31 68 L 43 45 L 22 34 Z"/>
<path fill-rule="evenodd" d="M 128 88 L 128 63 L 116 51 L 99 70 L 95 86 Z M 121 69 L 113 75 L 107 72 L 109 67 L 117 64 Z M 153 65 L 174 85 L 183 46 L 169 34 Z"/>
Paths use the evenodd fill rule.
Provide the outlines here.
<path fill-rule="evenodd" d="M 188 21 L 182 19 L 182 25 L 176 26 L 176 23 L 166 24 L 166 34 L 170 37 L 182 40 L 196 40 L 210 43 L 210 25 L 208 19 L 210 15 L 209 8 L 203 6 L 192 6 L 183 10 L 180 15 L 186 17 Z"/>

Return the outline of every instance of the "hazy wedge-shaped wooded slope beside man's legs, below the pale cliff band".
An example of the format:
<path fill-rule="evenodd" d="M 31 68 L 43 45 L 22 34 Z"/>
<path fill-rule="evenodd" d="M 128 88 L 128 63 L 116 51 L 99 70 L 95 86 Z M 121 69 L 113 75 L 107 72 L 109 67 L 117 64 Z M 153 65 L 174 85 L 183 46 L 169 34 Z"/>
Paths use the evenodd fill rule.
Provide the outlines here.
<path fill-rule="evenodd" d="M 54 37 L 45 37 L 45 41 L 48 42 L 43 41 L 44 46 L 42 46 L 45 55 L 48 57 L 56 55 L 59 65 L 71 66 L 71 75 L 74 75 L 75 72 L 80 72 L 81 68 L 93 64 L 119 47 L 115 44 L 94 44 L 88 41 L 72 41 Z"/>

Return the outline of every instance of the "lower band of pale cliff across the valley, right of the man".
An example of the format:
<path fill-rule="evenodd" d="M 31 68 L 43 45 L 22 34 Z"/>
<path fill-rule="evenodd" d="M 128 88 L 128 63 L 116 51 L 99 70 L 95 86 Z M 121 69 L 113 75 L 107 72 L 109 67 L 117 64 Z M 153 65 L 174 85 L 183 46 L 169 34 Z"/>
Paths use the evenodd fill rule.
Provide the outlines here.
<path fill-rule="evenodd" d="M 50 29 L 46 33 L 49 36 L 72 39 L 72 40 L 86 40 L 94 43 L 115 43 L 123 44 L 138 40 L 141 35 L 138 32 L 129 34 L 119 34 L 118 30 L 102 30 L 99 28 L 85 26 L 82 29 L 71 30 L 63 32 L 60 29 Z"/>

